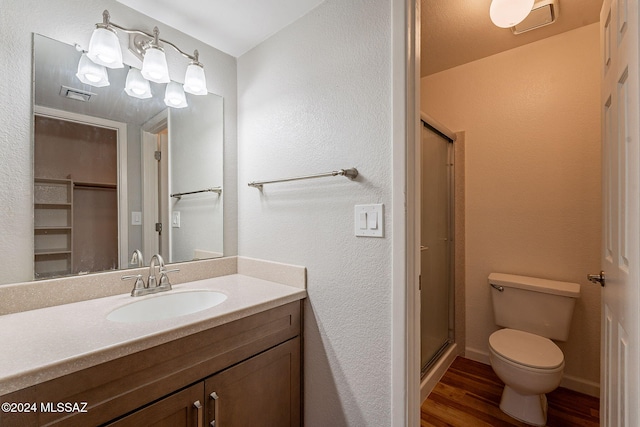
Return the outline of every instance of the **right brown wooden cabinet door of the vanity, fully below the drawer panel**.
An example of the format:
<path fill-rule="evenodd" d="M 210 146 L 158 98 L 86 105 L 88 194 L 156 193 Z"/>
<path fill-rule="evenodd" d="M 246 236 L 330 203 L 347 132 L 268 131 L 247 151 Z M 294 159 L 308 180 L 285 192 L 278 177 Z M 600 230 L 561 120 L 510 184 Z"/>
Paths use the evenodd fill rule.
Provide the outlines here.
<path fill-rule="evenodd" d="M 300 338 L 205 380 L 207 425 L 300 426 Z"/>

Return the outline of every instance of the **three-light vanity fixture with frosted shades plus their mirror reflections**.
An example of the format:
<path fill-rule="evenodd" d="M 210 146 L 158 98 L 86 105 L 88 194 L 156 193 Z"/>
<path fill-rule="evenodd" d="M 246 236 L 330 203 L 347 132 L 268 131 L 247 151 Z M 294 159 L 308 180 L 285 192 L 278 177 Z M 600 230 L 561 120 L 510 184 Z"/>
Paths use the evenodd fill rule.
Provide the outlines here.
<path fill-rule="evenodd" d="M 192 95 L 206 95 L 208 93 L 204 67 L 199 62 L 197 50 L 193 52 L 193 55 L 190 55 L 182 51 L 175 44 L 160 39 L 158 27 L 153 29 L 153 34 L 149 34 L 142 30 L 128 29 L 115 24 L 111 22 L 109 11 L 107 10 L 102 13 L 102 23 L 96 24 L 96 29 L 91 35 L 89 51 L 86 55 L 82 55 L 80 64 L 78 64 L 78 74 L 76 75 L 83 83 L 97 87 L 100 87 L 98 84 L 106 86 L 109 84 L 109 80 L 104 67 L 122 68 L 124 66 L 122 62 L 122 49 L 120 48 L 120 40 L 116 30 L 129 34 L 129 50 L 142 60 L 142 70 L 131 68 L 129 74 L 127 74 L 125 92 L 128 95 L 141 99 L 149 98 L 151 97 L 149 81 L 154 83 L 167 83 L 166 94 L 171 94 L 171 96 L 165 95 L 165 102 L 170 107 L 183 108 L 187 106 L 185 91 Z M 184 77 L 184 85 L 180 86 L 178 83 L 175 84 L 180 86 L 179 92 L 182 94 L 181 97 L 174 95 L 177 91 L 175 85 L 171 84 L 163 45 L 171 46 L 190 61 Z M 97 68 L 93 74 L 87 72 L 81 73 L 80 66 L 86 65 L 84 62 L 87 61 L 92 62 L 93 65 L 102 67 L 104 76 L 98 78 L 96 74 Z M 98 84 L 92 83 L 92 81 L 96 79 L 96 83 Z M 104 83 L 105 81 L 106 84 Z M 146 82 L 146 85 L 144 82 Z M 171 86 L 171 88 L 169 86 Z"/>

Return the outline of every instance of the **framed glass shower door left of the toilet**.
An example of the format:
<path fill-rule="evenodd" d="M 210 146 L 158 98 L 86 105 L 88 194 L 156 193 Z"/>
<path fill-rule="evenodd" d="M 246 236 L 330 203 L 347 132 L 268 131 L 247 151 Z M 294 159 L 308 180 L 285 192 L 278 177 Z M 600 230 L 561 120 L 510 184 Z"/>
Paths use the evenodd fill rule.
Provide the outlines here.
<path fill-rule="evenodd" d="M 424 376 L 454 342 L 453 141 L 422 118 L 420 333 Z M 441 129 L 441 127 L 439 127 Z M 447 135 L 448 134 L 448 135 Z"/>

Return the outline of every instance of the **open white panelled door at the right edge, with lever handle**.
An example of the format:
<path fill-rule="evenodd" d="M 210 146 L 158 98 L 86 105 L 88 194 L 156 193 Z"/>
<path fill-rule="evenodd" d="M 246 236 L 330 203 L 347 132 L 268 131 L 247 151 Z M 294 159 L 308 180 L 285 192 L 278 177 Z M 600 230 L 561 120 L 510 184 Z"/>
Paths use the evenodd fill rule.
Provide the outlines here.
<path fill-rule="evenodd" d="M 601 425 L 640 425 L 638 2 L 605 0 L 602 51 Z"/>

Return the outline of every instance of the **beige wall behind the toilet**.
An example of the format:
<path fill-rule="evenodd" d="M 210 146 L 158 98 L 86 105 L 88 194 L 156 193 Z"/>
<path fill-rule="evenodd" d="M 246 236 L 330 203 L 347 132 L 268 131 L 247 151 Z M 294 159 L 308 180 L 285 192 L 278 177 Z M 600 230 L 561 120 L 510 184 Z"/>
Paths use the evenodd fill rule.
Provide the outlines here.
<path fill-rule="evenodd" d="M 422 110 L 466 132 L 466 354 L 488 361 L 492 271 L 581 284 L 565 386 L 598 393 L 598 24 L 422 79 Z M 428 52 L 426 52 L 428 55 Z"/>

